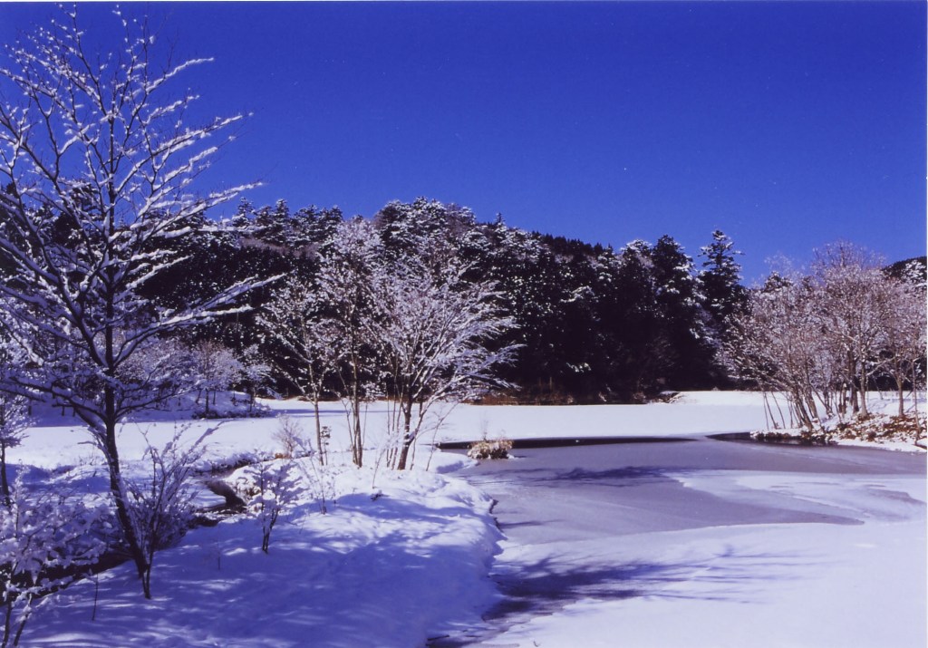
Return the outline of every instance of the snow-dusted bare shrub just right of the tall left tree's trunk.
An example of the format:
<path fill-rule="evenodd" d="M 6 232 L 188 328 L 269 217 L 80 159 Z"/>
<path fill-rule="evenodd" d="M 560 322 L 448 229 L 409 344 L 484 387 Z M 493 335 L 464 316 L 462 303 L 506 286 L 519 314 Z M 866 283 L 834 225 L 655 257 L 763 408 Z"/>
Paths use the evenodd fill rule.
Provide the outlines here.
<path fill-rule="evenodd" d="M 129 518 L 144 558 L 138 571 L 146 598 L 151 597 L 151 565 L 155 551 L 177 544 L 187 533 L 193 517 L 192 500 L 196 490 L 190 478 L 202 457 L 201 442 L 206 434 L 192 446 L 181 447 L 182 432 L 175 433 L 161 449 L 149 444 L 145 451 L 151 469 L 148 478 L 125 485 Z"/>

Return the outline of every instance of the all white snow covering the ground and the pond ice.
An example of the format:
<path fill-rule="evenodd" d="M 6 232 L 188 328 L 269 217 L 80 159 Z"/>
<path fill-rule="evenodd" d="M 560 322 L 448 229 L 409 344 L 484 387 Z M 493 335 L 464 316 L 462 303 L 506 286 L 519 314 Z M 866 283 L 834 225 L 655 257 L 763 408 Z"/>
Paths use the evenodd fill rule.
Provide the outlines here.
<path fill-rule="evenodd" d="M 267 405 L 311 434 L 307 404 Z M 519 548 L 496 530 L 491 501 L 454 475 L 466 460 L 423 446 L 416 470 L 376 470 L 383 408 L 372 405 L 369 465 L 357 471 L 344 465 L 341 406 L 326 405 L 323 416 L 342 464 L 320 482 L 331 480 L 338 496 L 328 514 L 316 499 L 303 500 L 275 528 L 267 554 L 253 519 L 195 529 L 156 556 L 151 601 L 142 597 L 133 567 L 123 564 L 62 592 L 57 605 L 32 617 L 22 644 L 389 648 L 421 646 L 479 625 L 498 599 L 488 576 L 495 554 L 511 558 Z M 192 441 L 213 425 L 195 421 L 184 438 Z M 702 393 L 649 406 L 460 406 L 436 438 L 686 436 L 764 426 L 758 395 Z M 226 421 L 208 437 L 204 459 L 273 456 L 280 451 L 277 427 L 274 418 Z M 175 425 L 161 415 L 125 426 L 120 442 L 130 474 L 145 471 L 142 431 L 159 446 Z M 103 466 L 87 439 L 76 422 L 46 412 L 9 460 L 30 481 L 102 490 Z M 658 552 L 668 564 L 702 565 L 702 577 L 670 578 L 660 590 L 622 601 L 575 603 L 487 645 L 924 645 L 924 485 L 911 477 L 892 484 L 840 475 L 804 484 L 767 473 L 693 478 L 686 486 L 743 497 L 802 490 L 804 498 L 852 509 L 863 524 L 710 527 L 599 543 L 586 550 L 623 551 L 630 560 Z M 918 504 L 894 508 L 893 498 L 869 496 L 880 489 Z M 747 577 L 715 577 L 732 564 Z M 855 589 L 870 582 L 883 585 Z M 795 609 L 804 614 L 795 616 Z M 894 619 L 888 625 L 896 636 L 874 642 L 866 633 L 874 617 Z"/>

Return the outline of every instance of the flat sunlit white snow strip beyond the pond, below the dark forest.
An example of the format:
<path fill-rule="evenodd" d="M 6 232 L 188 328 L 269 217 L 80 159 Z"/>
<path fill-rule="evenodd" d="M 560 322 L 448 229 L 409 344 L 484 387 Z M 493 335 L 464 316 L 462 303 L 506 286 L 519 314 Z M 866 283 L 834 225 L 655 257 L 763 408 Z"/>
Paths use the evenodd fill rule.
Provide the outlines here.
<path fill-rule="evenodd" d="M 873 411 L 892 411 L 893 398 L 871 395 Z M 166 443 L 178 429 L 192 443 L 202 434 L 214 431 L 207 439 L 205 460 L 223 462 L 240 457 L 270 457 L 279 444 L 273 432 L 276 416 L 287 415 L 303 425 L 307 438 L 315 430 L 312 407 L 298 400 L 262 401 L 273 415 L 268 419 L 235 419 L 230 421 L 165 420 L 165 412 L 152 412 L 127 423 L 120 436 L 122 457 L 136 460 L 145 449 L 143 433 L 155 446 Z M 775 406 L 774 406 L 775 407 Z M 783 406 L 785 407 L 785 405 Z M 924 408 L 923 402 L 920 408 Z M 419 439 L 415 463 L 428 465 L 437 472 L 460 467 L 457 455 L 432 453 L 433 442 L 475 441 L 481 438 L 509 439 L 555 438 L 562 436 L 693 436 L 704 434 L 742 433 L 767 429 L 764 397 L 754 392 L 683 392 L 670 403 L 650 405 L 598 406 L 479 406 L 459 405 L 441 412 L 445 419 L 436 432 Z M 368 457 L 377 460 L 382 447 L 387 406 L 371 403 L 365 416 Z M 341 403 L 324 403 L 320 419 L 331 428 L 331 451 L 336 455 L 348 452 L 348 422 Z M 40 412 L 38 423 L 17 448 L 13 461 L 21 460 L 35 466 L 54 469 L 75 465 L 81 461 L 95 462 L 97 449 L 88 445 L 89 436 L 79 421 L 62 418 L 57 410 Z M 853 441 L 843 443 L 854 444 Z M 866 442 L 863 442 L 866 443 Z M 872 447 L 872 446 L 871 446 Z M 906 444 L 887 444 L 915 450 Z"/>

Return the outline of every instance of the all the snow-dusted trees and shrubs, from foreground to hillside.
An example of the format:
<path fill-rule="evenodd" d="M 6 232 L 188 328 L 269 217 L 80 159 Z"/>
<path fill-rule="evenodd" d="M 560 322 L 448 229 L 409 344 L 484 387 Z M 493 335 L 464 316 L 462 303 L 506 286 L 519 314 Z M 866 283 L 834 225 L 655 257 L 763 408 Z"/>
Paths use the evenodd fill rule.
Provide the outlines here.
<path fill-rule="evenodd" d="M 886 268 L 839 243 L 808 272 L 749 289 L 720 231 L 693 258 L 670 236 L 613 250 L 427 199 L 369 218 L 255 207 L 247 182 L 198 184 L 245 119 L 188 123 L 198 97 L 177 81 L 209 61 L 162 61 L 146 26 L 122 24 L 122 49 L 98 58 L 64 13 L 0 66 L 3 645 L 101 561 L 128 558 L 150 599 L 156 553 L 194 522 L 209 437 L 232 415 L 268 414 L 261 398 L 300 396 L 315 412 L 311 434 L 283 420 L 277 456 L 228 492 L 265 553 L 281 516 L 307 502 L 325 512 L 344 492 L 330 448 L 346 453 L 340 471 L 406 471 L 457 403 L 645 403 L 738 386 L 788 395 L 786 413 L 768 408 L 773 426 L 811 434 L 868 418 L 867 393 L 883 389 L 912 416 L 923 259 Z M 337 443 L 322 415 L 333 402 Z M 102 487 L 45 490 L 12 470 L 34 417 L 53 411 L 84 426 L 104 475 L 87 482 Z M 209 422 L 196 440 L 181 421 L 157 441 L 138 431 L 127 460 L 126 426 L 173 412 Z"/>

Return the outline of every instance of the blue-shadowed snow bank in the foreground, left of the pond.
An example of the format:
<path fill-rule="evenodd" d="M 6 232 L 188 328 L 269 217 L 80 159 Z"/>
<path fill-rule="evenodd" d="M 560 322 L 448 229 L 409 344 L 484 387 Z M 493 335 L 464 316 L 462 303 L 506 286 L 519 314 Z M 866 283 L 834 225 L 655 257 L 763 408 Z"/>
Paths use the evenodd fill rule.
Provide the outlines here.
<path fill-rule="evenodd" d="M 32 619 L 27 643 L 401 648 L 479 621 L 496 596 L 490 501 L 433 473 L 372 480 L 339 471 L 334 508 L 304 502 L 267 554 L 253 519 L 192 531 L 156 555 L 151 601 L 130 564 L 78 583 Z"/>

